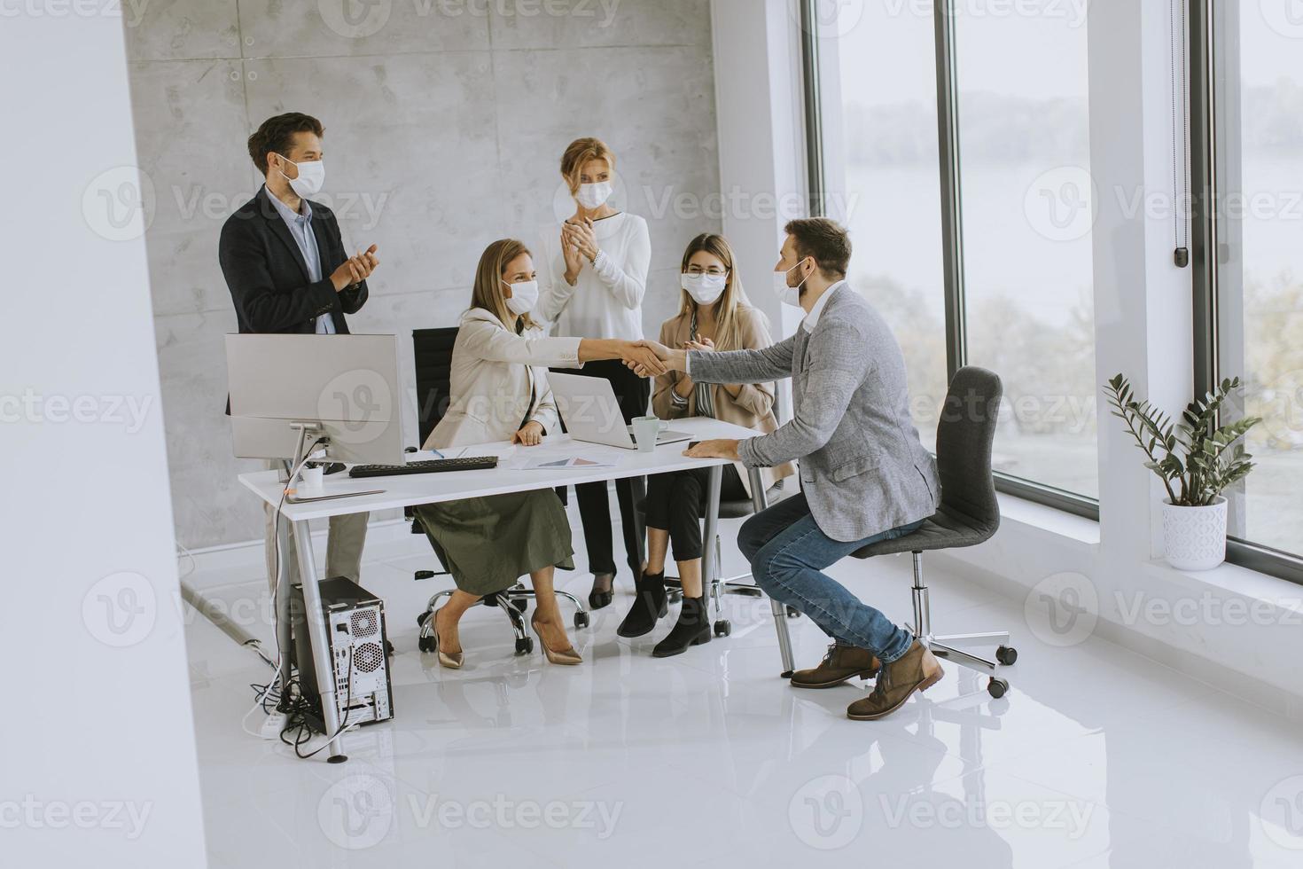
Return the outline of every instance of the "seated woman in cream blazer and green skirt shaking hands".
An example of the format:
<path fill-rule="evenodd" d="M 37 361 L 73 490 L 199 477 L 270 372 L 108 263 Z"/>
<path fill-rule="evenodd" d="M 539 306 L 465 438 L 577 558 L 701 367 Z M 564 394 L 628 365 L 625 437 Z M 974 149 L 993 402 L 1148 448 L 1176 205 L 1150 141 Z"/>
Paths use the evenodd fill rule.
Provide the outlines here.
<path fill-rule="evenodd" d="M 529 317 L 538 283 L 529 250 L 519 241 L 489 245 L 480 258 L 470 309 L 452 348 L 451 404 L 426 449 L 500 440 L 533 447 L 560 431 L 547 369 L 595 360 L 645 361 L 629 341 L 546 337 Z M 653 357 L 654 358 L 654 357 Z M 665 370 L 661 367 L 659 370 Z M 439 663 L 459 668 L 461 615 L 486 594 L 529 575 L 537 593 L 530 624 L 552 663 L 582 662 L 566 634 L 552 591 L 556 565 L 572 568 L 571 529 L 556 492 L 543 489 L 468 498 L 416 508 L 457 590 L 434 614 Z"/>

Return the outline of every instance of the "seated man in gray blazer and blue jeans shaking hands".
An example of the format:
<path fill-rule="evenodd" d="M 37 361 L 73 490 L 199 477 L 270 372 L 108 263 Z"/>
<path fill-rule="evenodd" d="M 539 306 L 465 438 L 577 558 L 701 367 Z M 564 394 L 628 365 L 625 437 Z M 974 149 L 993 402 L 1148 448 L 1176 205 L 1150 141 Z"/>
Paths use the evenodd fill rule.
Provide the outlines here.
<path fill-rule="evenodd" d="M 794 220 L 774 274 L 783 301 L 805 310 L 796 334 L 760 350 L 670 349 L 668 367 L 698 383 L 792 378 L 795 414 L 773 434 L 706 440 L 688 456 L 771 468 L 800 461 L 803 491 L 752 516 L 737 535 L 769 597 L 833 638 L 823 662 L 792 675 L 830 688 L 877 675 L 847 715 L 873 720 L 942 676 L 913 634 L 861 602 L 822 569 L 869 543 L 916 530 L 941 503 L 936 461 L 909 420 L 904 357 L 891 330 L 846 283 L 851 240 L 826 219 Z"/>

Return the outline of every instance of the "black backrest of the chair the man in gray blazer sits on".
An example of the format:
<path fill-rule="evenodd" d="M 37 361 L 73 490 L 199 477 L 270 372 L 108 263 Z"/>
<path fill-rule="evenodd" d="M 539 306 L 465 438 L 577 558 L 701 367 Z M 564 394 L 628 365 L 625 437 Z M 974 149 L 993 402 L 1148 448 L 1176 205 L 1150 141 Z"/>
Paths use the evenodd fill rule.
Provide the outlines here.
<path fill-rule="evenodd" d="M 990 452 L 1003 392 L 994 373 L 979 367 L 959 369 L 950 382 L 937 422 L 941 511 L 958 513 L 976 530 L 989 534 L 999 528 Z"/>

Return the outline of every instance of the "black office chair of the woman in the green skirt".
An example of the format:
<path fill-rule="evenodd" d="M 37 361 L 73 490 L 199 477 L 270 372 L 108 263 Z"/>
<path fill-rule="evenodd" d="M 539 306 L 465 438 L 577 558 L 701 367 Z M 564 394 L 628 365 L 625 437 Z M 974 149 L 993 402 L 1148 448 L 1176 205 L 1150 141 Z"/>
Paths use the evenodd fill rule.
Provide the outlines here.
<path fill-rule="evenodd" d="M 425 443 L 434 427 L 439 425 L 443 420 L 443 414 L 448 412 L 448 401 L 451 400 L 451 377 L 452 377 L 452 347 L 457 340 L 456 328 L 418 328 L 412 332 L 412 349 L 416 353 L 416 397 L 417 397 L 417 422 L 418 431 L 421 433 L 421 443 Z M 408 452 L 416 452 L 412 447 Z M 407 511 L 407 517 L 412 520 L 412 533 L 425 534 L 425 529 L 421 526 L 421 520 L 416 516 L 412 509 Z M 442 571 L 416 571 L 414 578 L 429 580 L 435 576 L 446 576 L 447 559 L 443 551 L 435 545 L 434 546 L 435 558 L 439 559 Z M 430 624 L 430 616 L 439 606 L 439 601 L 446 597 L 452 595 L 452 589 L 439 591 L 430 598 L 426 603 L 425 612 L 416 618 L 416 623 L 421 625 L 421 637 L 417 641 L 417 648 L 421 651 L 434 651 L 434 625 Z M 556 590 L 556 595 L 567 598 L 575 605 L 575 628 L 585 628 L 589 624 L 589 615 L 584 611 L 582 605 L 579 598 L 568 591 Z M 480 602 L 489 607 L 498 607 L 511 621 L 512 632 L 516 634 L 516 654 L 528 655 L 534 650 L 534 638 L 529 636 L 528 625 L 525 624 L 524 612 L 529 610 L 529 601 L 534 597 L 533 589 L 526 589 L 523 584 L 516 584 L 509 589 L 498 591 L 495 594 L 485 595 Z"/>

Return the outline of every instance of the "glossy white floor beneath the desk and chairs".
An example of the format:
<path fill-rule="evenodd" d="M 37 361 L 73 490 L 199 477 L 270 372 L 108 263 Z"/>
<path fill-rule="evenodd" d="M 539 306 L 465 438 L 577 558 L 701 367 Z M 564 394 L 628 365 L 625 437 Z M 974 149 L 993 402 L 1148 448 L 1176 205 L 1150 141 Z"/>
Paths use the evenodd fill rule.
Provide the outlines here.
<path fill-rule="evenodd" d="M 618 638 L 627 576 L 573 632 L 584 666 L 513 657 L 506 619 L 476 608 L 466 668 L 440 670 L 416 651 L 413 616 L 447 580 L 413 582 L 430 558 L 410 551 L 369 551 L 397 715 L 347 735 L 340 766 L 241 731 L 249 684 L 270 671 L 188 612 L 210 865 L 1303 865 L 1296 724 L 1102 640 L 1038 642 L 1020 601 L 936 569 L 938 631 L 1014 632 L 1014 691 L 993 701 L 949 667 L 894 717 L 857 723 L 844 709 L 863 683 L 801 692 L 778 677 L 767 606 L 752 599 L 728 599 L 731 637 L 678 658 L 648 654 L 668 620 Z M 907 572 L 904 559 L 833 569 L 898 620 Z M 190 578 L 237 615 L 263 611 L 257 564 Z M 581 595 L 588 582 L 564 575 Z M 791 627 L 813 666 L 823 634 Z"/>

